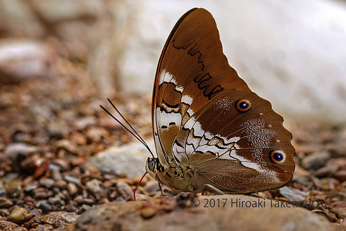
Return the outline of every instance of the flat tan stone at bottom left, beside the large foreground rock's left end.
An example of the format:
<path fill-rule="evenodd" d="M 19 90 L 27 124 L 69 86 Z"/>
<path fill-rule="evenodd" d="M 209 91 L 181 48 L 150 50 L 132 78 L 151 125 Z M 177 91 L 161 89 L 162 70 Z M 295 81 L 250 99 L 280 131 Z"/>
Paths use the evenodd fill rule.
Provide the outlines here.
<path fill-rule="evenodd" d="M 41 221 L 54 228 L 60 228 L 75 222 L 77 218 L 78 215 L 75 212 L 51 212 L 41 216 Z"/>

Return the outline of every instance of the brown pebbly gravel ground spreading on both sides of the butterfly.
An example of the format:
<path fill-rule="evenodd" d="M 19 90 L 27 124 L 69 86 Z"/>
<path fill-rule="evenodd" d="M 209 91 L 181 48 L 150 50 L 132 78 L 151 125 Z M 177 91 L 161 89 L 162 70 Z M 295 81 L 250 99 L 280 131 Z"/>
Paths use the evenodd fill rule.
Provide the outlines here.
<path fill-rule="evenodd" d="M 82 167 L 109 146 L 136 142 L 134 137 L 99 107 L 107 105 L 106 97 L 83 67 L 63 58 L 57 64 L 52 77 L 1 87 L 0 230 L 63 230 L 93 205 L 134 199 L 140 176 Z M 118 93 L 112 100 L 150 139 L 151 96 Z M 345 223 L 346 126 L 286 121 L 297 153 L 295 176 L 289 187 L 251 196 L 322 200 L 325 206 L 307 209 Z M 159 197 L 156 182 L 145 178 L 138 199 Z"/>

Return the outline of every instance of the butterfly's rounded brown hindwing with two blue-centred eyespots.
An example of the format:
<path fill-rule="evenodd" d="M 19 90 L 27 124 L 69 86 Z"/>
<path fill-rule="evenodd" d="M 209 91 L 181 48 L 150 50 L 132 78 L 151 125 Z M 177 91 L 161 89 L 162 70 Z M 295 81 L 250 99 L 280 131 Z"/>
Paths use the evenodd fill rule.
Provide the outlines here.
<path fill-rule="evenodd" d="M 237 102 L 244 99 L 251 102 L 246 112 L 237 110 Z M 228 90 L 185 123 L 173 154 L 179 165 L 189 166 L 224 191 L 272 189 L 293 176 L 291 137 L 271 103 L 253 92 Z M 280 151 L 284 160 L 273 162 L 273 151 Z"/>

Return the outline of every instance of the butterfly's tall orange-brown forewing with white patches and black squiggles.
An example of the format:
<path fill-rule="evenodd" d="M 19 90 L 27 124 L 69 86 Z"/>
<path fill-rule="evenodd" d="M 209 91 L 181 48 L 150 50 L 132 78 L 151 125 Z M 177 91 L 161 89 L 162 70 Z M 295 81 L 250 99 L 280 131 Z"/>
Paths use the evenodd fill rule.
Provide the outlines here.
<path fill-rule="evenodd" d="M 165 163 L 181 126 L 224 89 L 249 90 L 222 52 L 212 15 L 192 9 L 174 26 L 161 53 L 153 91 L 156 151 Z"/>

